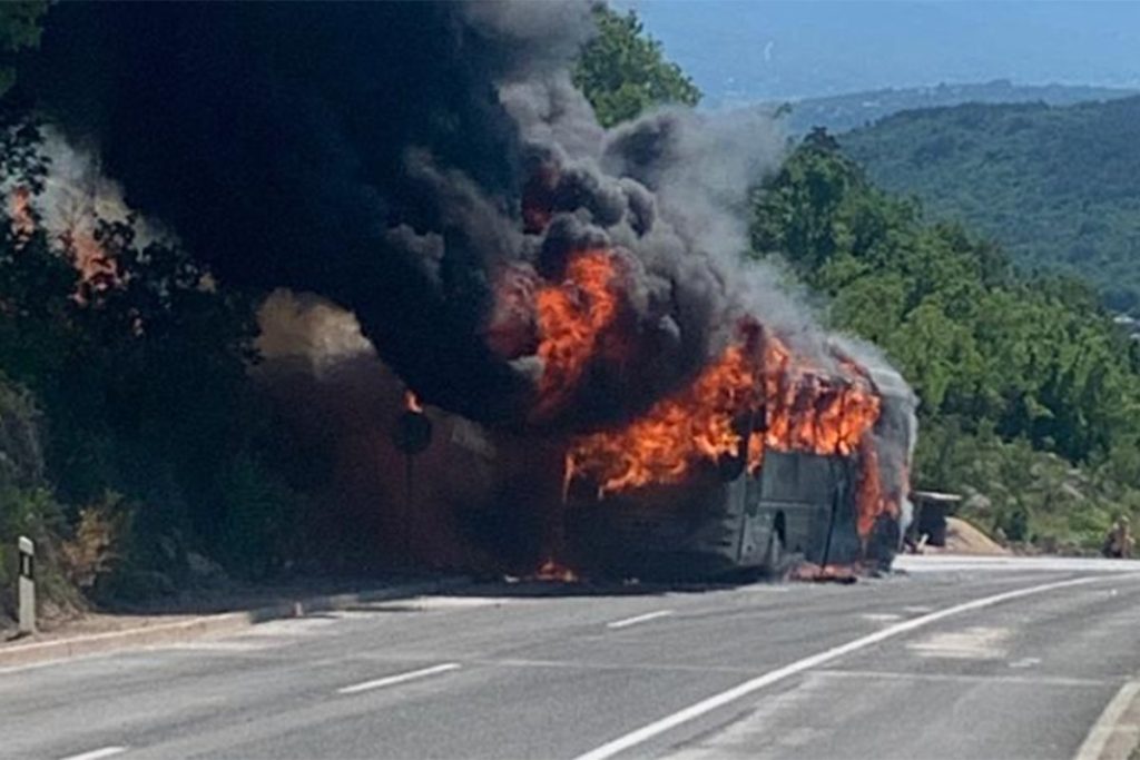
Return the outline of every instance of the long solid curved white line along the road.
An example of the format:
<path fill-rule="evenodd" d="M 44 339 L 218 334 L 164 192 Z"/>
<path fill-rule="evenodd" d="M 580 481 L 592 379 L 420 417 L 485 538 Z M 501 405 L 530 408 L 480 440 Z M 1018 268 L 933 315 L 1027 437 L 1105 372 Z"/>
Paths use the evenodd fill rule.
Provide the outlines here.
<path fill-rule="evenodd" d="M 1130 578 L 1140 578 L 1140 575 L 1130 575 Z M 1119 581 L 1121 577 L 1117 575 L 1113 580 Z M 1106 577 L 1094 577 L 1094 578 L 1076 578 L 1067 581 L 1056 581 L 1052 583 L 1042 583 L 1041 586 L 1031 586 L 1028 588 L 1016 589 L 1013 591 L 1005 591 L 1003 594 L 995 594 L 993 596 L 986 596 L 980 599 L 974 599 L 972 602 L 964 602 L 962 604 L 955 604 L 952 607 L 945 607 L 944 610 L 938 610 L 937 612 L 931 612 L 929 614 L 922 615 L 921 618 L 911 618 L 910 620 L 904 620 L 901 623 L 889 626 L 873 634 L 862 636 L 857 639 L 848 641 L 847 644 L 841 644 L 837 647 L 832 647 L 819 654 L 813 654 L 809 657 L 804 657 L 792 662 L 791 664 L 784 665 L 783 668 L 777 668 L 776 670 L 768 671 L 763 676 L 757 676 L 751 680 L 747 680 L 739 686 L 735 686 L 719 694 L 715 694 L 707 700 L 702 700 L 697 704 L 692 704 L 684 710 L 673 713 L 671 716 L 666 716 L 660 720 L 657 720 L 648 726 L 643 726 L 635 732 L 630 732 L 625 736 L 619 736 L 612 742 L 606 742 L 602 746 L 591 750 L 589 752 L 578 755 L 577 760 L 605 760 L 606 758 L 612 758 L 619 752 L 625 752 L 626 750 L 637 746 L 649 739 L 663 734 L 667 730 L 676 728 L 683 724 L 691 720 L 695 720 L 701 716 L 712 712 L 718 708 L 723 708 L 726 704 L 731 704 L 736 700 L 748 696 L 754 692 L 762 688 L 782 681 L 787 678 L 791 678 L 805 670 L 811 670 L 832 660 L 838 660 L 839 657 L 850 654 L 852 652 L 857 652 L 860 649 L 865 649 L 869 646 L 885 641 L 889 638 L 894 638 L 902 634 L 909 634 L 912 630 L 922 628 L 923 626 L 929 626 L 930 623 L 938 622 L 946 618 L 953 615 L 962 614 L 963 612 L 972 612 L 975 610 L 982 610 L 983 607 L 988 607 L 995 604 L 1001 604 L 1002 602 L 1009 602 L 1010 599 L 1019 599 L 1025 596 L 1031 596 L 1033 594 L 1043 594 L 1045 591 L 1052 591 L 1060 588 L 1069 588 L 1073 586 L 1084 586 L 1086 583 L 1096 583 L 1107 580 Z"/>

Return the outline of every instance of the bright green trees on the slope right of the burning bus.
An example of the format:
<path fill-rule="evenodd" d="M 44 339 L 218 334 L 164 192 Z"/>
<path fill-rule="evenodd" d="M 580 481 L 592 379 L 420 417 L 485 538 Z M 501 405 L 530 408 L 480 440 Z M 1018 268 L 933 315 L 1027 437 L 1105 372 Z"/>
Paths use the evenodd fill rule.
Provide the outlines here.
<path fill-rule="evenodd" d="M 1107 473 L 1115 463 L 1113 472 L 1135 476 L 1123 463 L 1140 441 L 1140 351 L 1088 287 L 1021 275 L 961 226 L 926 222 L 822 131 L 758 189 L 754 211 L 755 255 L 785 256 L 829 296 L 833 326 L 883 348 L 914 386 L 920 484 L 1041 491 L 1013 489 L 1016 468 L 975 466 L 967 451 L 983 447 L 1042 472 L 1058 461 Z M 1053 509 L 1064 481 L 1045 499 Z M 1130 481 L 1112 482 L 1099 491 L 1101 522 L 1133 498 L 1121 491 Z"/>

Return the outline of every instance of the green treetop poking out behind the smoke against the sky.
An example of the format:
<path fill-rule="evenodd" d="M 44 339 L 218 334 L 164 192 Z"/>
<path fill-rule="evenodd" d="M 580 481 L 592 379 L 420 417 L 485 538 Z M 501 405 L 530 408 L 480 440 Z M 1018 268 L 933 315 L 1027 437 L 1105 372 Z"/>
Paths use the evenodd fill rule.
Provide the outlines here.
<path fill-rule="evenodd" d="M 580 89 L 604 126 L 636 117 L 653 106 L 695 106 L 701 92 L 681 67 L 666 59 L 661 43 L 645 34 L 637 15 L 595 6 L 597 34 L 583 48 L 573 70 Z"/>

